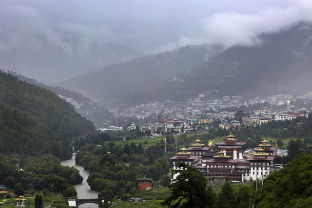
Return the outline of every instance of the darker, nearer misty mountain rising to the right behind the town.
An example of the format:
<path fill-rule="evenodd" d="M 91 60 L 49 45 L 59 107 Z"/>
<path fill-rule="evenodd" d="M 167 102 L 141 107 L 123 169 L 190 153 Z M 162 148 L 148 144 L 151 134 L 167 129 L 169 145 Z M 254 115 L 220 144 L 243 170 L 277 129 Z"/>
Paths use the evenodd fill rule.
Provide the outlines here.
<path fill-rule="evenodd" d="M 206 99 L 223 95 L 268 96 L 302 93 L 312 88 L 312 24 L 300 22 L 276 33 L 262 33 L 261 44 L 233 47 L 199 64 L 178 80 L 158 83 L 147 90 L 106 97 L 131 106 L 166 99 L 183 101 L 213 92 Z M 215 93 L 217 92 L 217 93 Z"/>

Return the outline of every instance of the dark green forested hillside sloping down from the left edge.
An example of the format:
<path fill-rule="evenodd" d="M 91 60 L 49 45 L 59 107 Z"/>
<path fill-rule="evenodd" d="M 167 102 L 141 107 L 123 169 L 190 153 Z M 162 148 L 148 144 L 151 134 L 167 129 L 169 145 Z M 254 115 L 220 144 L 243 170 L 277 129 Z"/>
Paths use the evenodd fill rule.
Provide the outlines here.
<path fill-rule="evenodd" d="M 1 152 L 66 159 L 70 141 L 94 131 L 91 121 L 49 90 L 0 72 L 0 92 Z"/>

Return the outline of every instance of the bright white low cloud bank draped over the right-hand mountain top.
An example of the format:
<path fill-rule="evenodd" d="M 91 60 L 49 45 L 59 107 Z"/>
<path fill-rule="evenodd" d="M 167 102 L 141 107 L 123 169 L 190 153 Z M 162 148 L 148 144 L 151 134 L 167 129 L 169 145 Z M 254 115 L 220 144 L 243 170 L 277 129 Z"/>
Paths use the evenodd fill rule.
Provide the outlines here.
<path fill-rule="evenodd" d="M 300 0 L 295 3 L 296 5 L 286 8 L 267 8 L 256 14 L 216 13 L 198 20 L 201 24 L 198 34 L 180 34 L 177 41 L 150 48 L 146 52 L 173 50 L 186 44 L 220 44 L 225 48 L 235 44 L 260 44 L 261 41 L 257 38 L 260 33 L 274 33 L 299 21 L 312 21 L 312 1 Z"/>

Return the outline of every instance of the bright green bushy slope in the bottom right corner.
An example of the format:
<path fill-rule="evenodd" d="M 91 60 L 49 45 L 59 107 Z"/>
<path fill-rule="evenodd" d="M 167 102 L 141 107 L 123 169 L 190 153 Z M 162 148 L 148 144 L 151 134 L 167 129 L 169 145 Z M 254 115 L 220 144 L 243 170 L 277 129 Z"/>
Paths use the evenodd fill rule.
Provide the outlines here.
<path fill-rule="evenodd" d="M 311 190 L 312 154 L 303 154 L 268 176 L 263 184 L 259 208 L 311 207 Z"/>

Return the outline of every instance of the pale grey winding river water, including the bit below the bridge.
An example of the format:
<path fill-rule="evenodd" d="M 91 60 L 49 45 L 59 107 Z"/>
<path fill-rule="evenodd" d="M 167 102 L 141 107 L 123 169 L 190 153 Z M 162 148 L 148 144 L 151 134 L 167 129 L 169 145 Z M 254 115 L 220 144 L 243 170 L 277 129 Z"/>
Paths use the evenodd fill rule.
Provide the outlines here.
<path fill-rule="evenodd" d="M 84 168 L 80 166 L 75 166 L 75 155 L 73 155 L 72 159 L 70 160 L 63 160 L 60 161 L 60 164 L 62 166 L 69 166 L 69 167 L 75 167 L 77 170 L 79 170 L 80 175 L 83 177 L 83 181 L 81 184 L 78 184 L 75 186 L 75 189 L 77 190 L 77 197 L 78 199 L 94 199 L 98 198 L 98 192 L 93 191 L 90 189 L 90 186 L 87 183 L 87 179 L 89 176 L 89 171 L 84 170 Z M 83 204 L 80 205 L 79 208 L 98 208 L 98 205 L 96 204 Z"/>

